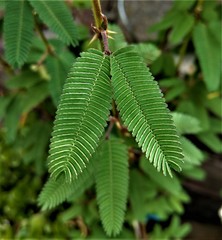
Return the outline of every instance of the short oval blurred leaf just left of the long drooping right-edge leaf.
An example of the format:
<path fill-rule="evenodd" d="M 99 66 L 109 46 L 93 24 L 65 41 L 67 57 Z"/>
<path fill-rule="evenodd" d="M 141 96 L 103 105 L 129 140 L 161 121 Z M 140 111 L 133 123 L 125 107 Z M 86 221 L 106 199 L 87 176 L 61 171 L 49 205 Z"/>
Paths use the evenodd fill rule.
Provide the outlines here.
<path fill-rule="evenodd" d="M 169 36 L 172 44 L 180 43 L 183 38 L 191 31 L 194 25 L 194 17 L 188 13 L 181 14 L 180 18 L 175 21 L 173 30 Z"/>

